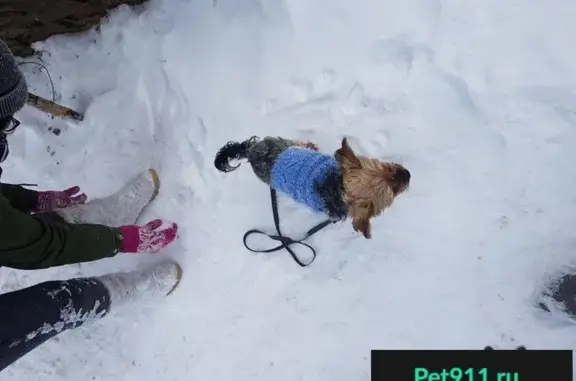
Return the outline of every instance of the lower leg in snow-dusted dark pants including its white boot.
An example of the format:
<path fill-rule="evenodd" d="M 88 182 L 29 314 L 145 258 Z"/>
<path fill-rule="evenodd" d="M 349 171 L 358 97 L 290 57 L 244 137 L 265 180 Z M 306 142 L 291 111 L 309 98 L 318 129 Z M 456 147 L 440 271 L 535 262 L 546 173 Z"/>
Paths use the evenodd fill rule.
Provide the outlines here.
<path fill-rule="evenodd" d="M 111 308 L 169 295 L 182 269 L 164 262 L 145 270 L 44 282 L 0 295 L 0 371 L 62 331 L 104 317 Z"/>

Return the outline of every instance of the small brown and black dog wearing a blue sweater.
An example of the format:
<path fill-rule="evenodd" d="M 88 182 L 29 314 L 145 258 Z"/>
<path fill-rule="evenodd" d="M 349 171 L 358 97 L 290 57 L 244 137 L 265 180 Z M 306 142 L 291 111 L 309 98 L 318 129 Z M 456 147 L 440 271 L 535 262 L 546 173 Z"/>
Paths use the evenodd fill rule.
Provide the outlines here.
<path fill-rule="evenodd" d="M 228 142 L 216 154 L 221 172 L 238 168 L 230 161 L 247 159 L 254 174 L 273 189 L 288 194 L 336 221 L 352 218 L 352 226 L 371 238 L 370 219 L 392 205 L 410 185 L 410 172 L 400 164 L 358 156 L 342 139 L 334 156 L 318 152 L 310 142 L 253 136 Z"/>

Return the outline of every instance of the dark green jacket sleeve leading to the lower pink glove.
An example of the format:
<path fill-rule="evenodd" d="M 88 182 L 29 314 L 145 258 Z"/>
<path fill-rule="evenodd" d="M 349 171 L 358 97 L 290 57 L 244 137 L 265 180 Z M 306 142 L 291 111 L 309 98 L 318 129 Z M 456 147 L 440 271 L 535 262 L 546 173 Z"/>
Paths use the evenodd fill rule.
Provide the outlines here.
<path fill-rule="evenodd" d="M 34 270 L 115 256 L 116 228 L 49 222 L 14 209 L 0 196 L 0 266 Z"/>

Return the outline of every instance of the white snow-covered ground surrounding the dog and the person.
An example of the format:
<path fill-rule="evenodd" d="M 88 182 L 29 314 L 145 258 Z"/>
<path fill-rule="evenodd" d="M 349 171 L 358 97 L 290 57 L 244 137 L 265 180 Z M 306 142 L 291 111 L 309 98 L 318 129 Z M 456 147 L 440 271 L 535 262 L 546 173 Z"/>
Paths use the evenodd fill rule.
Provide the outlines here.
<path fill-rule="evenodd" d="M 3 181 L 99 197 L 154 166 L 142 220 L 181 233 L 157 256 L 3 268 L 0 291 L 161 256 L 185 274 L 165 301 L 63 333 L 0 379 L 369 380 L 375 348 L 574 348 L 575 326 L 533 306 L 576 259 L 574 19 L 566 0 L 153 0 L 38 44 L 58 102 L 86 119 L 20 112 Z M 22 69 L 51 98 L 46 73 Z M 411 189 L 372 240 L 349 223 L 314 236 L 309 268 L 250 253 L 244 232 L 273 229 L 268 189 L 213 157 L 252 135 L 328 152 L 348 136 L 403 163 Z M 292 235 L 321 218 L 285 199 L 281 214 Z"/>

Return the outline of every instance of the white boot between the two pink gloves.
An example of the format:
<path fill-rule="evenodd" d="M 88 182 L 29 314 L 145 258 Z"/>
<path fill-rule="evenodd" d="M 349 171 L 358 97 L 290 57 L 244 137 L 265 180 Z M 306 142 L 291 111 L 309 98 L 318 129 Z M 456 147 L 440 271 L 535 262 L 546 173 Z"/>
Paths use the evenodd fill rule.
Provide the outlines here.
<path fill-rule="evenodd" d="M 86 204 L 55 210 L 66 222 L 111 227 L 131 225 L 158 195 L 160 177 L 155 169 L 138 174 L 116 193 Z"/>

